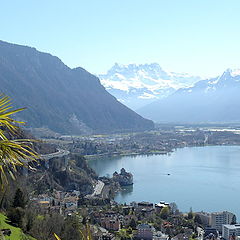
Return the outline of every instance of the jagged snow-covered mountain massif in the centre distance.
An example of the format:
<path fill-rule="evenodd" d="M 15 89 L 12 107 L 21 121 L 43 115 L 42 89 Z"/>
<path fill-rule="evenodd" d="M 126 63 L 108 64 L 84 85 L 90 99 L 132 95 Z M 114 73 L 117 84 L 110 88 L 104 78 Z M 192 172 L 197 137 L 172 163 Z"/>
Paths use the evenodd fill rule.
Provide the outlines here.
<path fill-rule="evenodd" d="M 185 73 L 166 72 L 157 63 L 115 63 L 106 74 L 99 75 L 99 78 L 108 92 L 134 110 L 200 80 L 200 77 Z"/>

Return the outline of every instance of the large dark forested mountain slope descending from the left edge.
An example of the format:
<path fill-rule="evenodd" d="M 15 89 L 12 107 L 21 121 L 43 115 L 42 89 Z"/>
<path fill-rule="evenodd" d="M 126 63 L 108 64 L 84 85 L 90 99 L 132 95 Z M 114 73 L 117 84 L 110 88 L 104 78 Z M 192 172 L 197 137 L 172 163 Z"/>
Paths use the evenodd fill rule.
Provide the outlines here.
<path fill-rule="evenodd" d="M 0 41 L 0 91 L 28 126 L 60 133 L 147 130 L 152 121 L 118 102 L 97 77 L 34 48 Z"/>

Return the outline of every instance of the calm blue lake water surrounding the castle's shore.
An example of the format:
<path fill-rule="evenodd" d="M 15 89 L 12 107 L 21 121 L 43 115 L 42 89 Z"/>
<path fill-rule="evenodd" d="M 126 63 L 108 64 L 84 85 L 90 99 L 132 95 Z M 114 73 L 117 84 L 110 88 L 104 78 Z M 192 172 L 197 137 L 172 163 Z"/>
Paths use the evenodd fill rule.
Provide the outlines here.
<path fill-rule="evenodd" d="M 89 161 L 100 175 L 122 167 L 134 185 L 115 200 L 176 202 L 181 211 L 232 211 L 240 218 L 240 147 L 206 146 L 177 149 L 168 155 L 125 156 Z M 168 175 L 170 174 L 170 175 Z"/>

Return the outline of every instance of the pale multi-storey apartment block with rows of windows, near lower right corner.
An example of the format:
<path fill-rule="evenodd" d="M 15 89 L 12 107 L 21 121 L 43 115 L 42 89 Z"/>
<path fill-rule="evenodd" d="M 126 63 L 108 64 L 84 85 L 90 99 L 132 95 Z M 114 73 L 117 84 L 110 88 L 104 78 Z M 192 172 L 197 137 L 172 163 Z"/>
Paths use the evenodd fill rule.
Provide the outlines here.
<path fill-rule="evenodd" d="M 222 226 L 231 224 L 234 216 L 233 213 L 227 211 L 211 213 L 210 226 L 222 232 Z"/>

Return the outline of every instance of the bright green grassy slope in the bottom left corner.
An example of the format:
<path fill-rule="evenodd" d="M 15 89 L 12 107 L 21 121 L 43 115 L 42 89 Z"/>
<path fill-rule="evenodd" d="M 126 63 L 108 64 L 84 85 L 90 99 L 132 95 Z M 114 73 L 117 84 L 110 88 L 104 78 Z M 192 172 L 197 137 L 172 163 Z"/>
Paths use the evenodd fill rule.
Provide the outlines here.
<path fill-rule="evenodd" d="M 36 238 L 25 235 L 20 228 L 13 227 L 6 222 L 6 216 L 0 214 L 0 229 L 10 229 L 12 234 L 10 236 L 5 236 L 6 240 L 36 240 Z"/>

